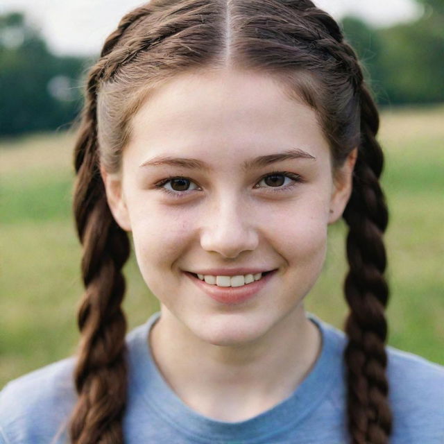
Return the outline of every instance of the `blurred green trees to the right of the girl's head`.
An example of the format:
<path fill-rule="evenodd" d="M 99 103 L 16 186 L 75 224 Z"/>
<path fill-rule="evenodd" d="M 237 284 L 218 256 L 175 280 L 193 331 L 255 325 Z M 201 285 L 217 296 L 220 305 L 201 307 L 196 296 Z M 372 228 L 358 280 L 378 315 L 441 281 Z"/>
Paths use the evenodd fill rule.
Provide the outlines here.
<path fill-rule="evenodd" d="M 444 0 L 417 2 L 424 13 L 414 22 L 371 28 L 355 17 L 342 21 L 379 105 L 444 101 Z"/>

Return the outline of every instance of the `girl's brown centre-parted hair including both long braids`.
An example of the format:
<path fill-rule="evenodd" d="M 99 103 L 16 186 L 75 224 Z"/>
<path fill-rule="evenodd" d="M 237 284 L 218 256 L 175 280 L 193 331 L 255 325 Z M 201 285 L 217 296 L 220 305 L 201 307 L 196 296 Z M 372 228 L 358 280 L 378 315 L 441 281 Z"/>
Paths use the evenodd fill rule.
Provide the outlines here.
<path fill-rule="evenodd" d="M 71 443 L 123 443 L 126 318 L 121 310 L 128 235 L 114 221 L 99 166 L 119 171 L 130 119 L 151 90 L 186 70 L 250 69 L 275 76 L 316 110 L 339 167 L 358 146 L 348 224 L 345 298 L 348 429 L 352 443 L 388 443 L 384 309 L 388 221 L 379 185 L 378 112 L 355 51 L 309 0 L 152 0 L 121 19 L 89 71 L 75 147 L 74 213 L 83 244 L 82 339 Z"/>

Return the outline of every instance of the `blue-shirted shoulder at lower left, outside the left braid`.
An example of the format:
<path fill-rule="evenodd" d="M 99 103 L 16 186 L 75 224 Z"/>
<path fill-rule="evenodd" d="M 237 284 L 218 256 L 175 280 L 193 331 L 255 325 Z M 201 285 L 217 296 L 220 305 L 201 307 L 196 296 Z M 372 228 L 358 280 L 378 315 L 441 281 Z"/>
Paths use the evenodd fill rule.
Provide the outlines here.
<path fill-rule="evenodd" d="M 75 402 L 74 357 L 44 366 L 0 391 L 0 437 L 8 444 L 50 443 Z M 1 442 L 1 441 L 0 441 Z"/>

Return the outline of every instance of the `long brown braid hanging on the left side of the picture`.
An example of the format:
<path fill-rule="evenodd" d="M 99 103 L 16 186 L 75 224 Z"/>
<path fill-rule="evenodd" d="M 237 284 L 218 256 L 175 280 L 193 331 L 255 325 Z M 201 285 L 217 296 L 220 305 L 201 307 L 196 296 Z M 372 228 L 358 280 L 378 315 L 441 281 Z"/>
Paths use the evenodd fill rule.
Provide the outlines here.
<path fill-rule="evenodd" d="M 142 8 L 140 8 L 142 9 Z M 108 54 L 129 26 L 129 14 L 108 37 Z M 128 236 L 112 217 L 99 169 L 96 123 L 97 85 L 106 56 L 89 71 L 85 106 L 74 149 L 77 173 L 74 214 L 83 244 L 82 275 L 85 293 L 78 309 L 82 334 L 74 381 L 78 400 L 69 423 L 71 443 L 123 443 L 122 418 L 126 406 L 126 318 L 121 309 L 128 260 Z"/>

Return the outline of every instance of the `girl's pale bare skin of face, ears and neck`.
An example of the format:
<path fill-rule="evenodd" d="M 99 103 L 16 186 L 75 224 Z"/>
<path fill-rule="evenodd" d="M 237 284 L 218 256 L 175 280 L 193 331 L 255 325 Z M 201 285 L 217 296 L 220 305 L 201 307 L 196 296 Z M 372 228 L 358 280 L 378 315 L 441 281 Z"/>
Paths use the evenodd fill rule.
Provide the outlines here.
<path fill-rule="evenodd" d="M 101 172 L 114 219 L 133 232 L 142 276 L 160 300 L 148 338 L 156 364 L 198 413 L 252 418 L 291 395 L 321 350 L 303 300 L 321 273 L 327 226 L 350 198 L 357 149 L 334 177 L 314 110 L 270 77 L 233 69 L 178 76 L 131 125 L 121 171 Z M 291 148 L 312 158 L 241 168 Z M 157 156 L 192 157 L 210 170 L 141 167 Z M 302 182 L 282 174 L 273 182 L 273 171 Z M 185 178 L 187 187 L 162 185 L 180 198 L 155 187 L 169 176 Z M 185 275 L 237 266 L 278 272 L 254 298 L 230 306 Z"/>

